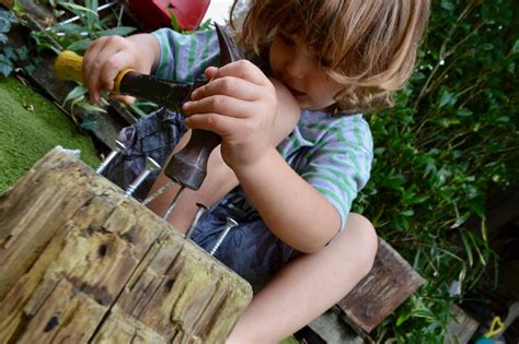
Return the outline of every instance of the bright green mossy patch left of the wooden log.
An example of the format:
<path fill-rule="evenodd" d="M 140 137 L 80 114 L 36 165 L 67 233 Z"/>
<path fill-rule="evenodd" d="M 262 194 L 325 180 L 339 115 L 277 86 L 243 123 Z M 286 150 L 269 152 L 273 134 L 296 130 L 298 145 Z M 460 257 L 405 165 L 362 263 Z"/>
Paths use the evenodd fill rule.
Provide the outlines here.
<path fill-rule="evenodd" d="M 0 192 L 56 145 L 80 150 L 92 167 L 100 163 L 91 138 L 53 103 L 15 79 L 0 78 Z"/>

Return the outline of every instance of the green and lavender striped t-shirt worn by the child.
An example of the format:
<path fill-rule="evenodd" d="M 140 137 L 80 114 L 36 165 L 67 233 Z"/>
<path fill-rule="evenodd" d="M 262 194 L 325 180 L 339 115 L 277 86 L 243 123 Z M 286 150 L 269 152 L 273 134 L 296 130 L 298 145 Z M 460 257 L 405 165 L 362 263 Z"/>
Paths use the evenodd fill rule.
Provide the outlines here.
<path fill-rule="evenodd" d="M 169 28 L 153 33 L 161 56 L 155 74 L 178 83 L 204 78 L 209 66 L 219 66 L 215 31 L 182 35 Z M 304 180 L 338 211 L 342 228 L 351 202 L 367 183 L 373 157 L 369 126 L 361 115 L 332 115 L 301 110 L 301 118 L 278 146 L 279 154 Z M 244 212 L 255 212 L 246 195 L 234 190 L 227 202 Z"/>

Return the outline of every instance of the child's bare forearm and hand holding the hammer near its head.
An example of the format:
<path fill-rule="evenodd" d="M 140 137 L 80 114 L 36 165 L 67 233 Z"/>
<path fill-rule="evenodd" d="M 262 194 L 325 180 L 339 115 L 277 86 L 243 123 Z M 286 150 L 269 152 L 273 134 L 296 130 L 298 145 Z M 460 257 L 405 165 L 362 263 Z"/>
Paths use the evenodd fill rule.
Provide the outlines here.
<path fill-rule="evenodd" d="M 276 95 L 252 63 L 207 70 L 206 86 L 184 106 L 192 128 L 222 137 L 221 154 L 268 228 L 302 252 L 314 252 L 341 228 L 338 211 L 296 174 L 272 145 Z"/>

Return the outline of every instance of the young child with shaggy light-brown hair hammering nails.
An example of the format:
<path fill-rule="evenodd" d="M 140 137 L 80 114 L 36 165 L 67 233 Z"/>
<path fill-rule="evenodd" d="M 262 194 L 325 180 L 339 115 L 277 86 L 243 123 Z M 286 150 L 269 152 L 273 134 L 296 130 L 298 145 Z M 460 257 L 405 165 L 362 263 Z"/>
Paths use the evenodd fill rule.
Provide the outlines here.
<path fill-rule="evenodd" d="M 219 55 L 212 31 L 103 37 L 89 47 L 83 76 L 94 100 L 113 90 L 124 68 L 177 82 L 210 80 L 184 105 L 185 118 L 161 109 L 125 129 L 128 150 L 107 174 L 125 187 L 146 156 L 163 166 L 188 129 L 221 135 L 203 187 L 182 193 L 170 222 L 185 230 L 195 203 L 209 205 L 192 237 L 205 249 L 228 217 L 239 223 L 216 257 L 256 293 L 228 343 L 279 342 L 371 269 L 377 235 L 349 212 L 372 161 L 360 112 L 390 105 L 390 93 L 410 78 L 428 7 L 428 0 L 253 0 L 237 41 L 256 64 L 209 67 Z M 159 177 L 153 190 L 163 182 Z M 151 209 L 162 214 L 169 201 Z"/>

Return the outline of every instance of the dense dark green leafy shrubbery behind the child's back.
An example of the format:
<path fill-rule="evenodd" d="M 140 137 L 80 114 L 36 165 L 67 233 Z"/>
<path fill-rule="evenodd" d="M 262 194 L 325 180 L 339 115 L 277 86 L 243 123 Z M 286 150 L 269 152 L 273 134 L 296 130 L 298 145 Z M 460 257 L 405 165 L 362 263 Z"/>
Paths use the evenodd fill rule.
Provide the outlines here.
<path fill-rule="evenodd" d="M 380 327 L 380 341 L 441 343 L 450 304 L 497 263 L 485 201 L 517 183 L 518 7 L 432 2 L 415 74 L 394 108 L 370 118 L 378 149 L 355 210 L 427 280 Z"/>

